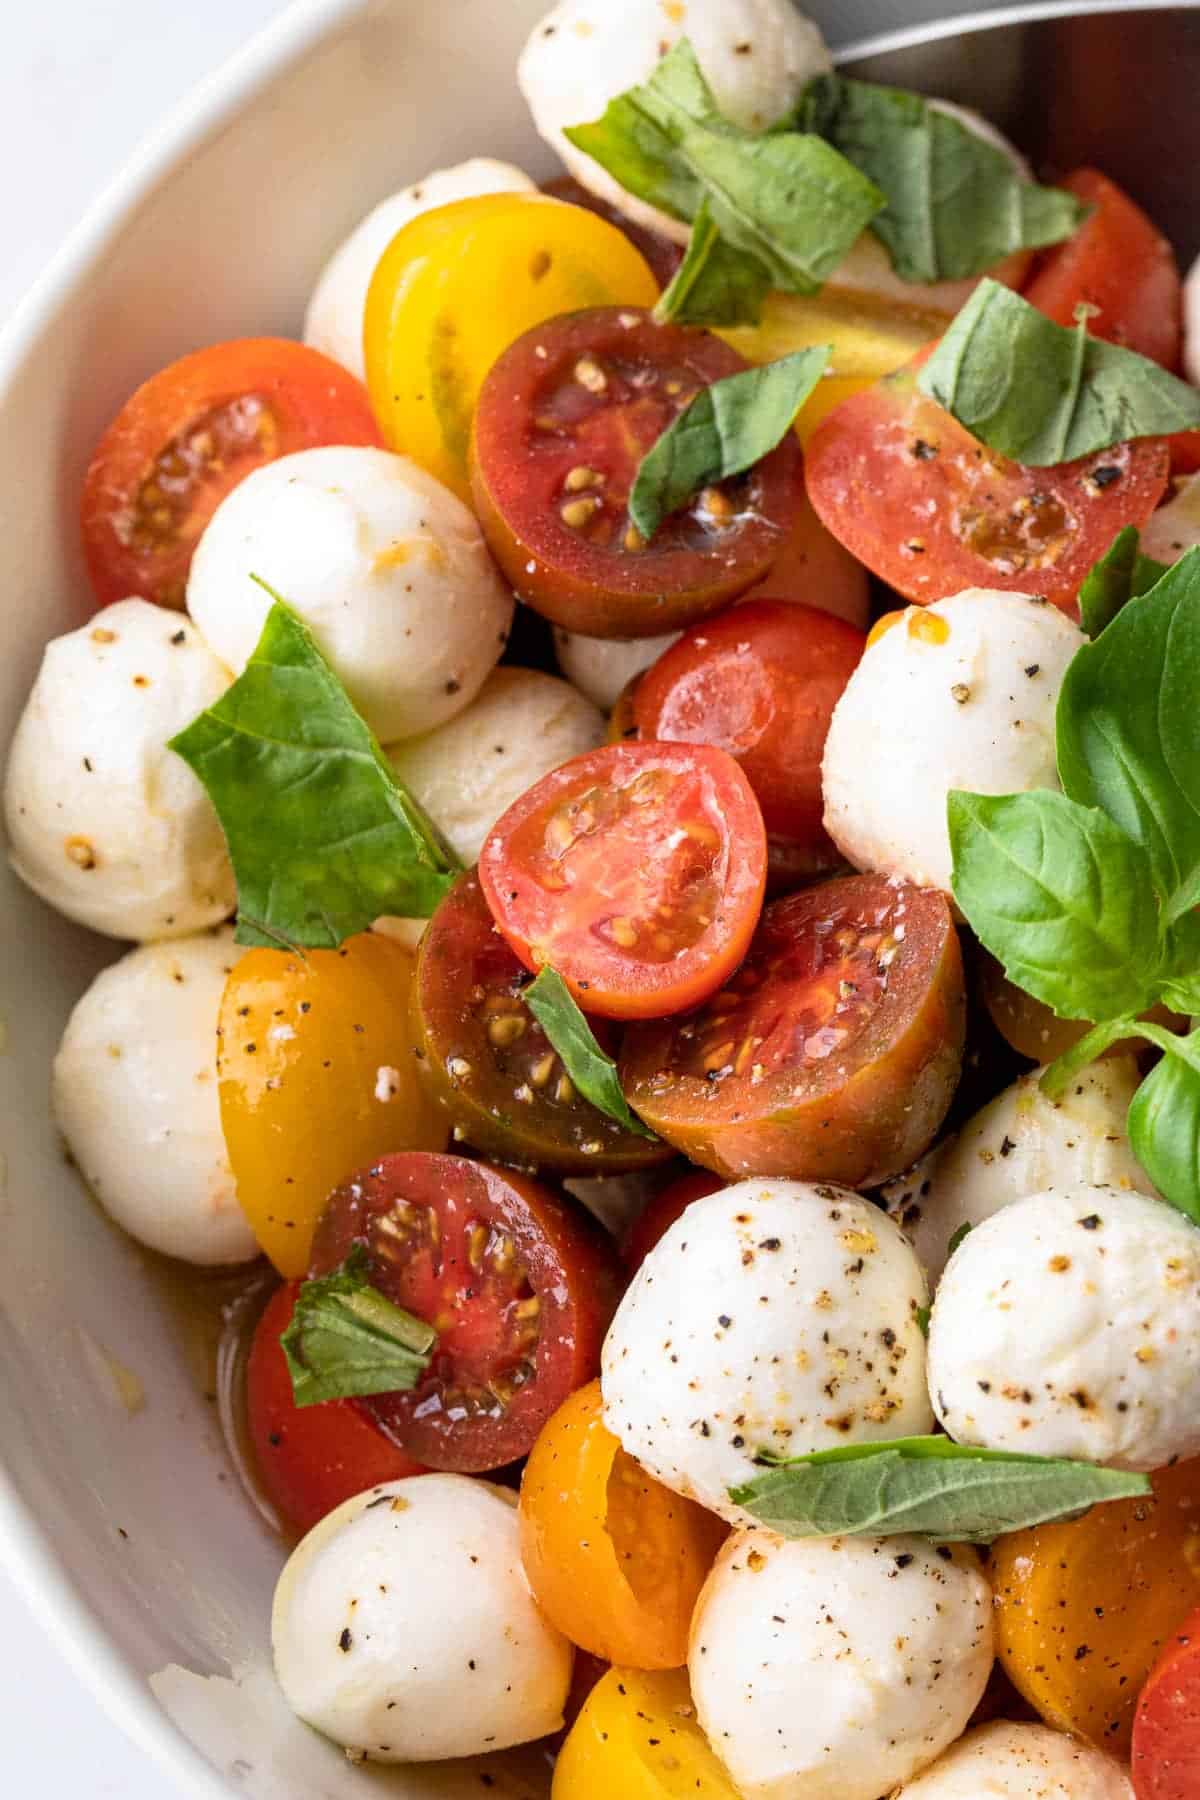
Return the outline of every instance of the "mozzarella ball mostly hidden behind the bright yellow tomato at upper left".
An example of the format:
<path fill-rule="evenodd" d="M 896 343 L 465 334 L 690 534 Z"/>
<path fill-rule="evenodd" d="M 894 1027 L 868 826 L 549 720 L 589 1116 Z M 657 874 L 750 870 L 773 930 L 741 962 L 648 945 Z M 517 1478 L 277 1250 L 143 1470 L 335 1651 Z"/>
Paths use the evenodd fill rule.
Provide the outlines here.
<path fill-rule="evenodd" d="M 511 162 L 491 157 L 471 157 L 453 169 L 435 169 L 423 182 L 389 194 L 362 220 L 345 243 L 326 263 L 304 315 L 304 342 L 333 356 L 344 369 L 365 382 L 362 326 L 367 306 L 367 288 L 376 263 L 396 232 L 435 207 L 455 200 L 475 200 L 479 194 L 522 194 L 534 184 Z"/>

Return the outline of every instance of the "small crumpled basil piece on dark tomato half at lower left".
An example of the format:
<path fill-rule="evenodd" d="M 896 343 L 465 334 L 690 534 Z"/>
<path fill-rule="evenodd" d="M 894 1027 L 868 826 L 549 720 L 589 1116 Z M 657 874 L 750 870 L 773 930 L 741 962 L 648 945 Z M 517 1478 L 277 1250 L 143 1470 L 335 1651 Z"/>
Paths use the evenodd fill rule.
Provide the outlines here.
<path fill-rule="evenodd" d="M 320 1406 L 416 1388 L 437 1332 L 371 1285 L 358 1244 L 333 1274 L 302 1285 L 279 1343 L 295 1404 Z"/>

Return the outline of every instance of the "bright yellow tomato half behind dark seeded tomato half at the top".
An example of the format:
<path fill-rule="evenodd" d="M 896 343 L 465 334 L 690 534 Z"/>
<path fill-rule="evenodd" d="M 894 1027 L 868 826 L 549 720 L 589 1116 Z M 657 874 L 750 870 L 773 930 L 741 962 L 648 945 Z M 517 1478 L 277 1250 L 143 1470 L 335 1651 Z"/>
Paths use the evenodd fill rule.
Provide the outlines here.
<path fill-rule="evenodd" d="M 380 428 L 470 502 L 471 418 L 493 362 L 533 326 L 585 306 L 653 306 L 658 283 L 608 220 L 547 194 L 435 207 L 383 252 L 363 349 Z"/>

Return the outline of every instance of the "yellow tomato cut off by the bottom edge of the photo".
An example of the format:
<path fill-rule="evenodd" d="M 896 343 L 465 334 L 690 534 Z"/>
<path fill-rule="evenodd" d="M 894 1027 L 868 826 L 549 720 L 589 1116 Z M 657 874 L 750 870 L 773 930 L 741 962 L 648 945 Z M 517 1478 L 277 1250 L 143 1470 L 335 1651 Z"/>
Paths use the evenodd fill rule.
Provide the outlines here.
<path fill-rule="evenodd" d="M 554 1766 L 552 1800 L 738 1800 L 682 1669 L 610 1669 Z"/>

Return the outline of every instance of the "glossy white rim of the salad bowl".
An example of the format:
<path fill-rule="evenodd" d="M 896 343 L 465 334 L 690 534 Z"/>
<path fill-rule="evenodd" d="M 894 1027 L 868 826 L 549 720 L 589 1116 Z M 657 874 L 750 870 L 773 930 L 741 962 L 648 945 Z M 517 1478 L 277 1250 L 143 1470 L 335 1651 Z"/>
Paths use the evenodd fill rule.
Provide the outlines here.
<path fill-rule="evenodd" d="M 205 76 L 124 162 L 70 230 L 0 328 L 0 409 L 36 338 L 88 279 L 135 212 L 205 139 L 302 61 L 324 38 L 365 16 L 378 0 L 291 0 Z M 903 50 L 977 31 L 1078 14 L 1195 11 L 1200 0 L 1025 0 L 995 11 L 903 25 L 856 38 L 837 61 Z M 124 1663 L 95 1611 L 74 1586 L 36 1512 L 18 1492 L 0 1449 L 0 1564 L 74 1676 L 106 1715 L 194 1800 L 230 1800 L 234 1789 Z"/>

